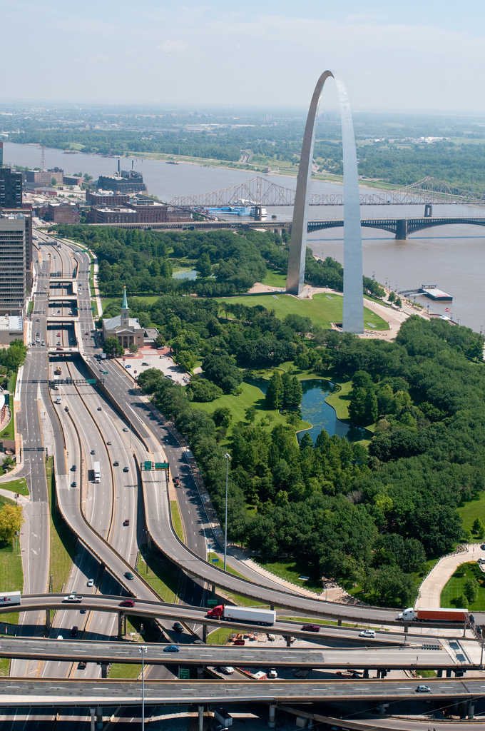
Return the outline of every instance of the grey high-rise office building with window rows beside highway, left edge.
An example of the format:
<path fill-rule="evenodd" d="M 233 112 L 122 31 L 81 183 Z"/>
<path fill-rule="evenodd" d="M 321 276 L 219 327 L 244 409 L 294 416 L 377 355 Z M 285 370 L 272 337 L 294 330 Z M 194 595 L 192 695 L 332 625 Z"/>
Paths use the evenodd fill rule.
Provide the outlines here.
<path fill-rule="evenodd" d="M 26 219 L 0 214 L 0 315 L 23 314 L 26 303 Z"/>

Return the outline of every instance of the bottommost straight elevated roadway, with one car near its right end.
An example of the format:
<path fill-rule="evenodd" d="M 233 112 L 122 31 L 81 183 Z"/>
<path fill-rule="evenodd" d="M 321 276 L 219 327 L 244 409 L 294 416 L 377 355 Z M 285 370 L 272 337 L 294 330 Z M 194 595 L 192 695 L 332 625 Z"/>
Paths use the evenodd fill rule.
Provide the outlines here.
<path fill-rule="evenodd" d="M 427 685 L 426 700 L 438 699 L 448 705 L 453 699 L 483 698 L 485 683 L 452 681 L 437 678 Z M 145 680 L 147 705 L 190 703 L 283 703 L 340 700 L 416 700 L 416 680 L 400 681 L 148 681 Z M 65 681 L 48 678 L 26 680 L 5 678 L 0 686 L 0 705 L 26 707 L 72 705 L 140 705 L 141 681 Z"/>

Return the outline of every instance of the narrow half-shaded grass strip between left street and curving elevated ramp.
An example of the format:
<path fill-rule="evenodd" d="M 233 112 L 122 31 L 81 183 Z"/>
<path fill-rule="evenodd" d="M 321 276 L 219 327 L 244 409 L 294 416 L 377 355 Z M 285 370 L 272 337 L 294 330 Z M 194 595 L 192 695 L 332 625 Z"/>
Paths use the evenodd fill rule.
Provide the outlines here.
<path fill-rule="evenodd" d="M 53 478 L 52 457 L 47 460 L 47 492 L 50 506 L 50 573 L 53 575 L 52 591 L 61 591 L 66 583 L 76 554 L 77 538 L 56 511 L 56 484 Z"/>

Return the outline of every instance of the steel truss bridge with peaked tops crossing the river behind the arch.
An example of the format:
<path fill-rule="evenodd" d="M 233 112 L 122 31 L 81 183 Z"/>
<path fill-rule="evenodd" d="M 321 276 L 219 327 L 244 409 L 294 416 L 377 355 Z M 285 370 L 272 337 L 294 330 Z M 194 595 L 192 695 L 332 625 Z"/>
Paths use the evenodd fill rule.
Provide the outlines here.
<path fill-rule="evenodd" d="M 227 205 L 291 206 L 294 205 L 294 190 L 277 185 L 267 178 L 251 178 L 246 183 L 199 195 L 173 198 L 170 205 L 179 208 L 218 208 Z M 343 205 L 343 192 L 310 194 L 310 205 Z M 423 178 L 417 183 L 396 190 L 362 193 L 361 205 L 432 205 L 454 203 L 485 205 L 485 196 L 473 191 L 462 190 L 436 178 Z"/>

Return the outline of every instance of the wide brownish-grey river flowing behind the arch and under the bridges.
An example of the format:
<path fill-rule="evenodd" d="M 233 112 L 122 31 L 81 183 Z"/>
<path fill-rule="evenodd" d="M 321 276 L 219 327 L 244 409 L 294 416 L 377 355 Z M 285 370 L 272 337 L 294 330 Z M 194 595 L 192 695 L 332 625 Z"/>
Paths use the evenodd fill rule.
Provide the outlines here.
<path fill-rule="evenodd" d="M 39 167 L 41 152 L 38 145 L 15 145 L 4 142 L 4 163 Z M 123 164 L 124 162 L 124 164 Z M 46 167 L 61 167 L 66 173 L 88 173 L 93 178 L 115 172 L 117 159 L 97 155 L 65 155 L 61 150 L 46 149 Z M 121 161 L 121 167 L 131 167 L 131 159 Z M 203 167 L 183 164 L 167 165 L 161 160 L 136 160 L 135 170 L 143 174 L 148 192 L 161 200 L 178 195 L 217 191 L 244 183 L 255 173 L 230 168 Z M 430 171 L 431 172 L 431 171 Z M 296 178 L 263 175 L 270 181 L 294 189 Z M 364 190 L 364 189 L 363 189 Z M 312 192 L 342 192 L 336 183 L 314 181 Z M 368 192 L 368 189 L 367 191 Z M 291 208 L 269 208 L 268 216 L 291 219 Z M 362 206 L 362 218 L 423 216 L 422 205 Z M 471 205 L 434 205 L 435 216 L 485 216 L 485 208 Z M 310 219 L 340 219 L 341 206 L 310 207 Z M 309 244 L 318 256 L 332 256 L 343 262 L 343 229 L 319 231 L 309 236 Z M 484 276 L 485 227 L 465 224 L 448 225 L 419 232 L 407 241 L 396 241 L 386 231 L 362 229 L 364 274 L 375 276 L 392 289 L 413 289 L 421 284 L 436 284 L 452 295 L 452 303 L 434 303 L 428 298 L 417 301 L 432 311 L 444 314 L 451 310 L 460 325 L 485 330 Z"/>

